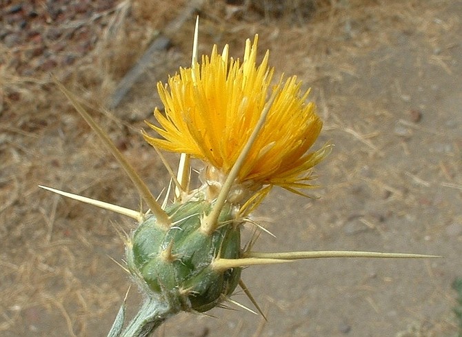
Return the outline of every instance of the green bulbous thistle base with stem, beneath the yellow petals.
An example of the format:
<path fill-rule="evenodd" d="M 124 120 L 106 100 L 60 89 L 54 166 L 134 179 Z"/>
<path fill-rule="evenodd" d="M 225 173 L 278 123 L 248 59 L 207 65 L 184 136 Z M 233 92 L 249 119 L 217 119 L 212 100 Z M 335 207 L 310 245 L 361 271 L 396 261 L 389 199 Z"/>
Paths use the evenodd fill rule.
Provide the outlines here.
<path fill-rule="evenodd" d="M 208 201 L 176 203 L 165 210 L 172 226 L 165 228 L 150 216 L 132 233 L 126 245 L 127 265 L 145 299 L 124 333 L 111 330 L 109 336 L 148 336 L 168 316 L 206 312 L 232 294 L 241 268 L 223 270 L 213 262 L 239 258 L 240 223 L 227 205 L 219 217 L 223 225 L 206 234 L 201 221 L 211 208 Z"/>

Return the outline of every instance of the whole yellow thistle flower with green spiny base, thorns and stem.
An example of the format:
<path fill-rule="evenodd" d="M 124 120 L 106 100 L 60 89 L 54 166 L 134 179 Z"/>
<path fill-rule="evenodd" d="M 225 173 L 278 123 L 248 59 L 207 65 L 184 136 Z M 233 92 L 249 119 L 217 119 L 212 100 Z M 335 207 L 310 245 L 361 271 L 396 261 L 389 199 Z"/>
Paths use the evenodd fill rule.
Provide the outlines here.
<path fill-rule="evenodd" d="M 224 300 L 233 302 L 229 297 L 238 285 L 263 315 L 241 280 L 242 268 L 251 265 L 308 258 L 436 257 L 381 252 L 254 252 L 258 234 L 241 247 L 241 228 L 244 223 L 258 225 L 248 214 L 271 187 L 279 185 L 301 194 L 298 189 L 310 187 L 310 170 L 323 159 L 328 146 L 308 152 L 322 123 L 314 104 L 305 103 L 309 90 L 301 94 L 301 83 L 295 76 L 284 83 L 281 77 L 268 93 L 273 70 L 268 70 L 268 52 L 256 65 L 257 36 L 253 44 L 246 42 L 242 63 L 228 59 L 227 45 L 221 55 L 215 46 L 210 58 L 203 57 L 199 65 L 194 52 L 197 32 L 198 21 L 192 68 L 180 69 L 168 85 L 158 85 L 165 116 L 156 109 L 160 127 L 148 125 L 163 139 L 144 134 L 154 147 L 190 154 L 207 163 L 201 174 L 203 185 L 188 191 L 189 177 L 182 177 L 188 173 L 189 156 L 181 156 L 181 178 L 176 181 L 179 193 L 175 192 L 172 203 L 168 203 L 167 192 L 159 205 L 108 134 L 77 97 L 57 83 L 150 207 L 150 212 L 129 210 L 41 186 L 138 221 L 138 227 L 125 238 L 125 261 L 126 271 L 143 292 L 143 303 L 125 325 L 124 300 L 108 336 L 148 336 L 181 311 L 207 312 Z"/>

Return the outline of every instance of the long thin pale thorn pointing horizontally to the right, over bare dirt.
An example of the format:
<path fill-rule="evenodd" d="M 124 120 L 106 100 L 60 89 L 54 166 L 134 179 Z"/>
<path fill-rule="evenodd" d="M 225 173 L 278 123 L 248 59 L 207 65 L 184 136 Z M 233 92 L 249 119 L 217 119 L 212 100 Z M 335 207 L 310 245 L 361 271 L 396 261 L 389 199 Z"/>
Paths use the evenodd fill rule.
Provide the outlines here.
<path fill-rule="evenodd" d="M 244 255 L 246 258 L 274 258 L 277 260 L 288 261 L 301 260 L 307 258 L 441 258 L 441 256 L 425 254 L 355 252 L 335 250 L 280 253 L 245 252 Z"/>

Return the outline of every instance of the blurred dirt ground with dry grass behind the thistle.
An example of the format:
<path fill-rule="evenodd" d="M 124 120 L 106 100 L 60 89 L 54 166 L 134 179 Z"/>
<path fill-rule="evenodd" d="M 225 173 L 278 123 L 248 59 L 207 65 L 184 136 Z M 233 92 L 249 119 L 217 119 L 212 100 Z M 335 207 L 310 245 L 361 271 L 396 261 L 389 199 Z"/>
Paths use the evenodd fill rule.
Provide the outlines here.
<path fill-rule="evenodd" d="M 328 259 L 245 269 L 268 315 L 181 314 L 156 336 L 456 336 L 462 276 L 462 2 L 197 1 L 199 52 L 260 35 L 276 73 L 312 87 L 334 143 L 301 198 L 274 190 L 257 214 L 265 251 L 354 249 L 440 259 Z M 143 142 L 155 85 L 188 66 L 189 1 L 0 1 L 0 334 L 106 336 L 130 281 L 116 229 L 132 221 L 49 185 L 137 210 L 139 196 L 50 80 L 55 74 L 154 191 L 168 176 Z M 119 106 L 111 94 L 158 32 L 170 38 Z M 176 156 L 168 156 L 172 165 Z M 248 305 L 241 293 L 234 300 Z M 130 292 L 129 316 L 139 295 Z"/>

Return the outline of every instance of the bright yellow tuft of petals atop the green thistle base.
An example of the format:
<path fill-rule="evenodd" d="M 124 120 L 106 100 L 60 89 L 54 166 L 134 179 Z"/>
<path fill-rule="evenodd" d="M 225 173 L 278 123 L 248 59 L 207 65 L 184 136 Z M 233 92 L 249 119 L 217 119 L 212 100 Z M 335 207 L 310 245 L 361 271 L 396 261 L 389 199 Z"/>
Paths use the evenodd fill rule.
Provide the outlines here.
<path fill-rule="evenodd" d="M 158 83 L 165 105 L 154 116 L 160 127 L 150 125 L 163 137 L 144 134 L 148 143 L 171 152 L 183 152 L 201 159 L 222 174 L 228 174 L 254 130 L 265 103 L 277 90 L 265 124 L 237 176 L 238 183 L 279 185 L 292 192 L 310 187 L 310 169 L 325 156 L 326 147 L 308 150 L 321 131 L 322 122 L 314 103 L 306 103 L 309 90 L 301 94 L 301 82 L 292 76 L 272 86 L 273 70 L 268 69 L 268 52 L 257 66 L 257 42 L 247 40 L 242 63 L 222 54 L 214 45 L 209 57 L 192 68 Z"/>

